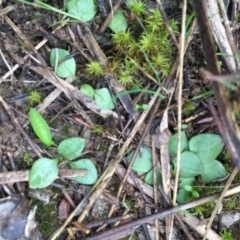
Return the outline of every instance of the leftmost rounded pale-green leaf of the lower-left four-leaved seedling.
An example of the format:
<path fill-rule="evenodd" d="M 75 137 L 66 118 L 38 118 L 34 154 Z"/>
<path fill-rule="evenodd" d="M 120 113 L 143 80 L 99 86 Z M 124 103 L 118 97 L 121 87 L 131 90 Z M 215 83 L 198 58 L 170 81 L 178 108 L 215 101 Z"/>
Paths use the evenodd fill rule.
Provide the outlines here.
<path fill-rule="evenodd" d="M 58 159 L 39 158 L 29 173 L 30 188 L 45 188 L 58 176 Z"/>

